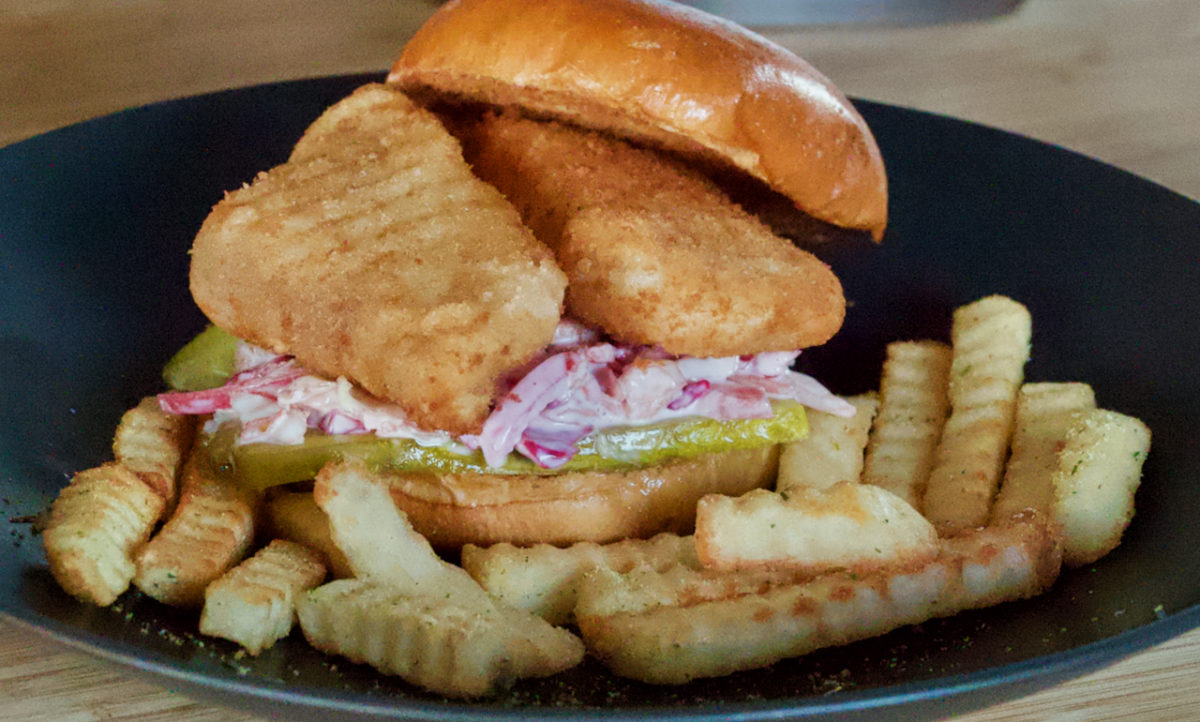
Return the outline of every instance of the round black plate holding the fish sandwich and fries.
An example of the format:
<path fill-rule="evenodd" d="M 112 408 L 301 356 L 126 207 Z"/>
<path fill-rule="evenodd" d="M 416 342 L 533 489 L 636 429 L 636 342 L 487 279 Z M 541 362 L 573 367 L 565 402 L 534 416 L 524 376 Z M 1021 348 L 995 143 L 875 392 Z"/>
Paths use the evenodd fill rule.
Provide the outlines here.
<path fill-rule="evenodd" d="M 0 151 L 0 503 L 12 619 L 193 694 L 260 712 L 409 718 L 943 716 L 1046 686 L 1200 624 L 1200 204 L 1079 155 L 863 102 L 892 182 L 882 246 L 829 248 L 845 330 L 805 362 L 835 390 L 875 383 L 883 347 L 944 338 L 952 308 L 1001 293 L 1034 319 L 1032 380 L 1085 380 L 1154 447 L 1124 543 L 1050 594 L 770 669 L 678 688 L 595 664 L 449 703 L 292 638 L 258 658 L 128 594 L 109 609 L 54 586 L 20 517 L 109 458 L 120 414 L 202 327 L 186 249 L 227 188 L 283 161 L 307 122 L 373 76 L 138 108 Z"/>

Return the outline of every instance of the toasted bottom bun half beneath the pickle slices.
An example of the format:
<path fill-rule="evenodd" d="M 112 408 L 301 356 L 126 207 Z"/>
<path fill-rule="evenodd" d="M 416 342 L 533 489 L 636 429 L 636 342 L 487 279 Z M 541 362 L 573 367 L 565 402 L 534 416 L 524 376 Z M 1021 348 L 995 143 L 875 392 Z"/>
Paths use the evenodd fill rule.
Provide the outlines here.
<path fill-rule="evenodd" d="M 779 447 L 731 451 L 632 471 L 553 476 L 389 473 L 391 497 L 434 547 L 557 546 L 690 534 L 704 494 L 774 483 Z"/>

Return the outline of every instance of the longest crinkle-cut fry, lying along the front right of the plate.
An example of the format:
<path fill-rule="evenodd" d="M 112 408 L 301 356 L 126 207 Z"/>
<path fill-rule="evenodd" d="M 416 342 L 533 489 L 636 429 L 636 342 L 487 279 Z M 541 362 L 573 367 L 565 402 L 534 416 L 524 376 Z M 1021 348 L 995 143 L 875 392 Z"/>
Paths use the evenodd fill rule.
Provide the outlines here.
<path fill-rule="evenodd" d="M 943 539 L 907 572 L 787 583 L 763 574 L 617 574 L 598 570 L 576 619 L 593 655 L 622 676 L 683 684 L 1026 598 L 1056 578 L 1062 552 L 1033 516 Z"/>

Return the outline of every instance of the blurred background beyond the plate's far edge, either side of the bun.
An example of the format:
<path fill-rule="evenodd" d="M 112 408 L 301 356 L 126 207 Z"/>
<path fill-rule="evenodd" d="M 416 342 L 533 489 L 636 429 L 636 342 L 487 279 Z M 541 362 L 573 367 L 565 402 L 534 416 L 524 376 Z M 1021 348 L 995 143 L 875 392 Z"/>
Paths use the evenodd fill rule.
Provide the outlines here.
<path fill-rule="evenodd" d="M 1195 0 L 694 0 L 850 95 L 1066 145 L 1200 197 Z M 160 100 L 384 71 L 404 0 L 0 0 L 0 144 Z"/>

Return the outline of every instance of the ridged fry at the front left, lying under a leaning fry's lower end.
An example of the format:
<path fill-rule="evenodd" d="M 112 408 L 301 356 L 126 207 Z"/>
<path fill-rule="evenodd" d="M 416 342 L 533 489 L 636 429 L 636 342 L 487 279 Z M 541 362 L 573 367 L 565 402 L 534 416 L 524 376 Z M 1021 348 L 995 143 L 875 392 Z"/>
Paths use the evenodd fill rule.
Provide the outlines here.
<path fill-rule="evenodd" d="M 448 697 L 493 694 L 583 660 L 577 637 L 536 616 L 370 579 L 319 586 L 300 600 L 298 613 L 314 648 Z"/>

